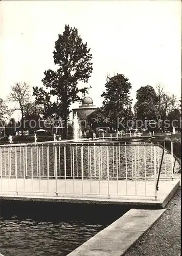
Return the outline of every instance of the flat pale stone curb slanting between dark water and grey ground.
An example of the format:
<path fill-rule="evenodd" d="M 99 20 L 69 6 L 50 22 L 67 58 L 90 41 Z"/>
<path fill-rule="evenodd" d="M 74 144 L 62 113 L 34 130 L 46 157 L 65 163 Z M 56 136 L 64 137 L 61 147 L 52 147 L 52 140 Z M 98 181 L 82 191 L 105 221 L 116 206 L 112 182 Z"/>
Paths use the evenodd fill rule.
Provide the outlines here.
<path fill-rule="evenodd" d="M 122 256 L 165 209 L 131 209 L 67 256 Z"/>

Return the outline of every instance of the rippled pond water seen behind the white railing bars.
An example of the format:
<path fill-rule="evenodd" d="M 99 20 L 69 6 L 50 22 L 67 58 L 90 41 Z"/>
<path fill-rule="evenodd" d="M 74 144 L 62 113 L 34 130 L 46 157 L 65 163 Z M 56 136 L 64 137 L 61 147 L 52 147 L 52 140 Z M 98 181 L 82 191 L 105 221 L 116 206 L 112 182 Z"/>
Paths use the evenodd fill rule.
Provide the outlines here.
<path fill-rule="evenodd" d="M 137 142 L 138 143 L 138 142 Z M 133 142 L 132 142 L 133 144 Z M 160 168 L 162 148 L 155 146 L 156 171 Z M 56 156 L 56 162 L 55 162 Z M 47 178 L 55 177 L 55 166 L 58 178 L 74 177 L 107 177 L 128 178 L 151 177 L 154 172 L 154 146 L 116 146 L 109 144 L 102 146 L 59 144 L 18 146 L 15 150 L 0 148 L 0 161 L 2 175 L 30 176 Z M 173 158 L 174 162 L 174 158 Z M 83 164 L 82 164 L 83 163 Z M 171 154 L 165 151 L 162 174 L 171 173 Z M 179 164 L 176 162 L 174 172 L 178 172 Z"/>

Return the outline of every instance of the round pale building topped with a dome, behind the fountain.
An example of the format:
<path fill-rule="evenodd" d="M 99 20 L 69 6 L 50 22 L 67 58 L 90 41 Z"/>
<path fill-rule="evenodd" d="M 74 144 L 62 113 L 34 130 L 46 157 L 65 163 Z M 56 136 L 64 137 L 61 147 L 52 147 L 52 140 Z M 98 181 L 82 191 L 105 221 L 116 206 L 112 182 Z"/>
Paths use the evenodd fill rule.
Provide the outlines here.
<path fill-rule="evenodd" d="M 82 100 L 82 104 L 79 106 L 78 109 L 73 109 L 73 117 L 77 113 L 78 118 L 82 120 L 86 120 L 87 117 L 93 113 L 97 109 L 97 106 L 93 105 L 93 100 L 90 97 L 85 97 Z"/>

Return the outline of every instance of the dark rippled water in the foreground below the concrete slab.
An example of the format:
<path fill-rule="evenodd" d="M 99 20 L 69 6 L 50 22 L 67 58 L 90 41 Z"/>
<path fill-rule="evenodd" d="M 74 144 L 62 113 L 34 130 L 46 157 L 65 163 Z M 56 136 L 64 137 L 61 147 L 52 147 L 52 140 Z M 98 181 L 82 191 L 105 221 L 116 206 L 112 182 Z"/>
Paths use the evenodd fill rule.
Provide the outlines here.
<path fill-rule="evenodd" d="M 1 202 L 4 256 L 65 256 L 121 217 L 118 205 Z"/>

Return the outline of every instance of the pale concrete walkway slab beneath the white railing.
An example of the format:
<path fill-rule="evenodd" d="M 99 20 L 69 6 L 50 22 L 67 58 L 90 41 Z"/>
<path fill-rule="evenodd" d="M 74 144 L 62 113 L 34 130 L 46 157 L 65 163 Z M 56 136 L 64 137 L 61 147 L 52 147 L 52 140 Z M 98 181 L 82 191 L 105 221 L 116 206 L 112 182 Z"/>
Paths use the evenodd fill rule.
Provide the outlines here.
<path fill-rule="evenodd" d="M 151 180 L 147 180 L 146 183 L 142 180 L 138 181 L 137 186 L 135 181 L 127 181 L 127 187 L 125 180 L 119 180 L 118 184 L 117 181 L 109 181 L 109 186 L 107 180 L 100 182 L 58 180 L 57 195 L 55 180 L 48 182 L 47 179 L 2 178 L 0 184 L 1 199 L 4 200 L 123 204 L 164 208 L 179 187 L 179 180 L 160 180 L 157 200 L 154 197 L 154 182 Z"/>

